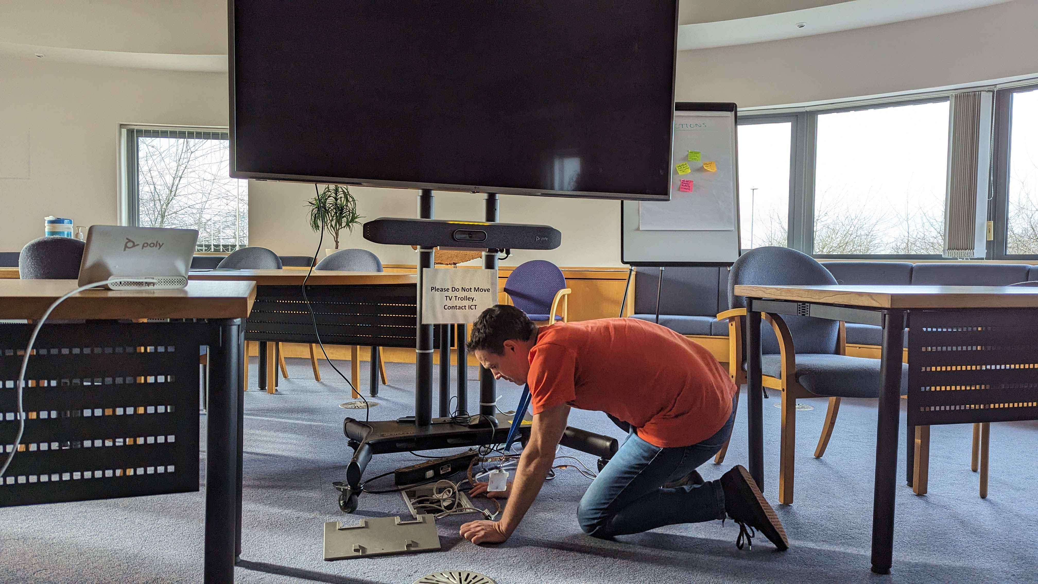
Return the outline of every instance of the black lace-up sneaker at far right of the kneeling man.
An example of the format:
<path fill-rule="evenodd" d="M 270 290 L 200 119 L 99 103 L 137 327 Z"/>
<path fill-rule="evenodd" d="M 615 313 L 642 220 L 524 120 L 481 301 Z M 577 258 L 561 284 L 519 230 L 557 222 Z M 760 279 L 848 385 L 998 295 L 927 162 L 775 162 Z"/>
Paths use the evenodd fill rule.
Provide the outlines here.
<path fill-rule="evenodd" d="M 770 539 L 780 552 L 789 549 L 786 530 L 745 467 L 737 464 L 721 475 L 720 486 L 725 489 L 725 512 L 739 524 L 739 537 L 735 541 L 737 548 L 741 550 L 748 545 L 753 549 L 757 530 Z"/>

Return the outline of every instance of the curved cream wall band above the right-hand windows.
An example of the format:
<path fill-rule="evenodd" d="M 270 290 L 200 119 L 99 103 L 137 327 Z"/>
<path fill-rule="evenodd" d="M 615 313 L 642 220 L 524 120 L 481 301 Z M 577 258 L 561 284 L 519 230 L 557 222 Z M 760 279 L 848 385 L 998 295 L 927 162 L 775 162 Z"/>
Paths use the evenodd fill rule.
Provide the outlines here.
<path fill-rule="evenodd" d="M 816 36 L 683 51 L 678 100 L 740 107 L 1038 74 L 1038 1 Z"/>

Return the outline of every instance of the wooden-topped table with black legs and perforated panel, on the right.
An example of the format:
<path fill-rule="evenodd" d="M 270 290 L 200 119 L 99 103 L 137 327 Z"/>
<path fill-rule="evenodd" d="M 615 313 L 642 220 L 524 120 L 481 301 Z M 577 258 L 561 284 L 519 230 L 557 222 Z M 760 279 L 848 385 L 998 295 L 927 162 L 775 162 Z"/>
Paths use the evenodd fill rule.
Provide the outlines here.
<path fill-rule="evenodd" d="M 1038 419 L 1038 289 L 983 286 L 736 286 L 746 297 L 749 472 L 764 485 L 761 313 L 882 327 L 872 572 L 889 574 L 904 330 L 908 427 Z M 1019 367 L 1019 365 L 1026 367 Z M 1009 365 L 1010 367 L 1006 367 Z"/>

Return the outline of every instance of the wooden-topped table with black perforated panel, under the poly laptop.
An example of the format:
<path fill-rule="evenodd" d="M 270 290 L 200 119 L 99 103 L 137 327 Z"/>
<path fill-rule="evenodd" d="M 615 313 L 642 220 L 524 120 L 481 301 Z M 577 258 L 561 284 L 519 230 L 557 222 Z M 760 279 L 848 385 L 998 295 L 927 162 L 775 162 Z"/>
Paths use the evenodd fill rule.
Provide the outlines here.
<path fill-rule="evenodd" d="M 0 280 L 0 318 L 39 318 L 75 288 L 73 280 Z M 207 408 L 204 575 L 231 582 L 241 541 L 242 322 L 254 298 L 251 282 L 192 282 L 184 290 L 88 290 L 62 302 L 52 318 L 87 320 L 40 329 L 26 374 L 26 448 L 7 470 L 0 504 L 197 490 L 198 348 L 208 345 L 217 374 Z M 134 322 L 146 318 L 189 320 Z M 0 377 L 18 378 L 17 350 L 31 327 L 0 324 Z M 3 409 L 17 410 L 8 394 Z M 91 437 L 115 448 L 89 448 L 103 442 Z"/>

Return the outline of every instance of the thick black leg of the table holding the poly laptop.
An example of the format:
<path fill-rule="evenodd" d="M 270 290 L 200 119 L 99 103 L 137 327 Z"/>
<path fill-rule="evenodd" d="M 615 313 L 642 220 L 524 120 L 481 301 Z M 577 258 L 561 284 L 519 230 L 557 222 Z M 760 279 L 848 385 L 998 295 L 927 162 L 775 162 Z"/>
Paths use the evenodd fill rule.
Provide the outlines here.
<path fill-rule="evenodd" d="M 206 582 L 234 582 L 238 523 L 239 401 L 242 319 L 215 321 L 206 420 Z M 216 331 L 214 331 L 216 333 Z"/>

